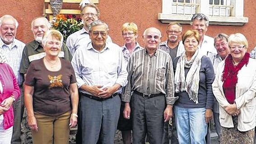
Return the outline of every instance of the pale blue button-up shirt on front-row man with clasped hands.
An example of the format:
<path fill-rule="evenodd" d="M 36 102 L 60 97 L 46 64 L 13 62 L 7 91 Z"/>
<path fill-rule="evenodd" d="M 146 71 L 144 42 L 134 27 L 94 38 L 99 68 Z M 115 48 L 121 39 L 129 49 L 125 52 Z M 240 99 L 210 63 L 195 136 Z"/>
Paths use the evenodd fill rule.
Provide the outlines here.
<path fill-rule="evenodd" d="M 102 85 L 102 88 L 127 84 L 127 70 L 120 46 L 110 42 L 102 51 L 93 48 L 92 42 L 75 51 L 71 61 L 76 75 L 77 85 Z M 82 93 L 90 94 L 84 90 Z M 121 88 L 117 91 L 121 93 Z"/>

